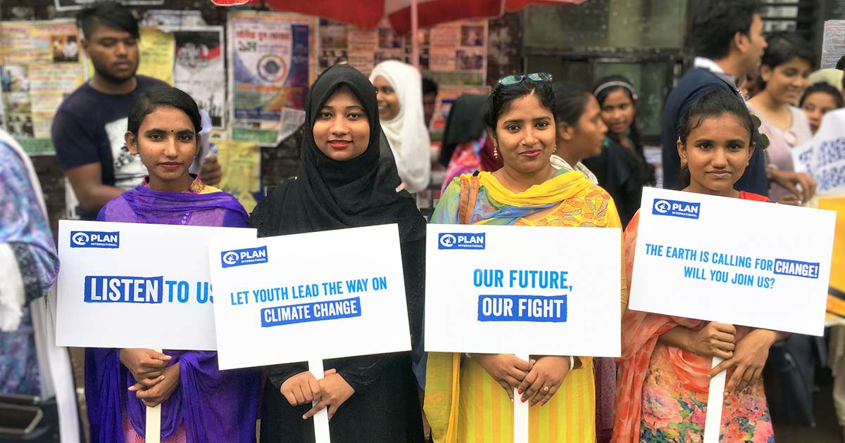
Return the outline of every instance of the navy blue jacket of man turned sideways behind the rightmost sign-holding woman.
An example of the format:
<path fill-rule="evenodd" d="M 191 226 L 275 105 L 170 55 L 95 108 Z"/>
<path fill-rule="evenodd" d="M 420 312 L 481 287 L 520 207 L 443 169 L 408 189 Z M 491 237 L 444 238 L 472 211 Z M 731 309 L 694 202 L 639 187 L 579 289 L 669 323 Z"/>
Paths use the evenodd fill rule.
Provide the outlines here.
<path fill-rule="evenodd" d="M 690 110 L 690 105 L 702 96 L 716 90 L 723 89 L 731 94 L 738 94 L 736 89 L 726 83 L 716 74 L 705 68 L 692 68 L 678 82 L 663 105 L 663 116 L 660 127 L 660 141 L 663 157 L 663 187 L 678 189 L 680 178 L 680 157 L 678 155 L 678 124 L 681 116 Z M 743 100 L 737 95 L 737 100 Z M 769 180 L 766 178 L 766 159 L 760 149 L 760 134 L 756 128 L 753 138 L 757 143 L 754 154 L 744 175 L 733 187 L 737 191 L 754 192 L 761 196 L 769 195 Z"/>

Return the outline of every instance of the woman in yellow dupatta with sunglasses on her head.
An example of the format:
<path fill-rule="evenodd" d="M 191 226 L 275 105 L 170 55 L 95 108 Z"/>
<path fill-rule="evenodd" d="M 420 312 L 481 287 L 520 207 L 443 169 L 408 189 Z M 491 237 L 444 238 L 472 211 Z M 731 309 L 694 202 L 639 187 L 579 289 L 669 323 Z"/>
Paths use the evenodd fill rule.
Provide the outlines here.
<path fill-rule="evenodd" d="M 455 178 L 432 223 L 621 226 L 607 192 L 580 172 L 549 163 L 559 132 L 550 81 L 548 74 L 499 80 L 484 118 L 504 167 Z M 521 397 L 510 398 L 514 387 Z M 512 441 L 513 401 L 532 406 L 532 443 L 596 440 L 591 358 L 428 354 L 425 413 L 438 443 Z"/>

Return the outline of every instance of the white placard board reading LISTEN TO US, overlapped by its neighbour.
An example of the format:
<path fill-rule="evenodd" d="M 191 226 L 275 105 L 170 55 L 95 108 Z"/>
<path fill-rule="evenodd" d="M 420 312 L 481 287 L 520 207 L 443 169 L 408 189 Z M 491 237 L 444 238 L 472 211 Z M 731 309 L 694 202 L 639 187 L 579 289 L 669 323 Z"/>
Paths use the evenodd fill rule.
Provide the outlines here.
<path fill-rule="evenodd" d="M 255 235 L 253 229 L 60 220 L 57 345 L 214 350 L 207 242 Z"/>

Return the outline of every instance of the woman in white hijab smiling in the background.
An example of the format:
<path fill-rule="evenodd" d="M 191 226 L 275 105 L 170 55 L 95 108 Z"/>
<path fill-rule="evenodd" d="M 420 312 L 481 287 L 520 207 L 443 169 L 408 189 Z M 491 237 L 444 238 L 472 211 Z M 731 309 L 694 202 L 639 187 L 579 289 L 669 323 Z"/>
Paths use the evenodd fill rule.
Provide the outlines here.
<path fill-rule="evenodd" d="M 408 192 L 421 192 L 431 180 L 431 146 L 423 115 L 423 79 L 403 62 L 380 62 L 370 74 L 379 100 L 379 120 L 390 142 L 396 169 Z"/>

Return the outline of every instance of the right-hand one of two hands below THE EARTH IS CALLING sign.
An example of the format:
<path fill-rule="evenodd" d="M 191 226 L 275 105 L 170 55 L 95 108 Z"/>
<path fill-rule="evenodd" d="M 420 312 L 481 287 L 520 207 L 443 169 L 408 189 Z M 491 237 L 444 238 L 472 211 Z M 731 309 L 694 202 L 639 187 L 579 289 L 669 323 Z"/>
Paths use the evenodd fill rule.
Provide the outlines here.
<path fill-rule="evenodd" d="M 777 332 L 774 331 L 755 329 L 749 332 L 737 343 L 733 358 L 722 361 L 707 376 L 713 377 L 722 370 L 733 367 L 733 374 L 730 375 L 728 384 L 725 386 L 725 397 L 731 392 L 743 391 L 760 381 L 763 366 L 766 365 L 766 359 L 769 357 L 769 348 L 776 340 Z"/>

